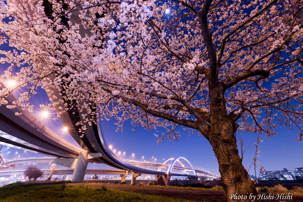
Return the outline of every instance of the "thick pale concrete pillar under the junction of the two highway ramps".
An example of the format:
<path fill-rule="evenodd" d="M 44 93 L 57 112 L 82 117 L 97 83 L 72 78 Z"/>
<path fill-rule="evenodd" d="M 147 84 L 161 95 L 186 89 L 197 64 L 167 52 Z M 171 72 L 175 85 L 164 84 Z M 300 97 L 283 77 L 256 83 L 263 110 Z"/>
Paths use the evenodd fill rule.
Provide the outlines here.
<path fill-rule="evenodd" d="M 85 171 L 88 164 L 88 153 L 81 152 L 78 156 L 78 161 L 73 173 L 72 182 L 83 182 L 85 177 Z"/>

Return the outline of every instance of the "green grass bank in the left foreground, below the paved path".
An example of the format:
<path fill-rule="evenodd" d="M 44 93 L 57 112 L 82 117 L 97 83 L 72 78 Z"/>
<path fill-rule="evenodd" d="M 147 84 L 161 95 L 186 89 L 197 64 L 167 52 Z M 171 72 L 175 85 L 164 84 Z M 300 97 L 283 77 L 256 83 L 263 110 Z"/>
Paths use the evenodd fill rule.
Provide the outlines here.
<path fill-rule="evenodd" d="M 0 202 L 192 202 L 104 187 L 13 183 L 0 188 Z"/>

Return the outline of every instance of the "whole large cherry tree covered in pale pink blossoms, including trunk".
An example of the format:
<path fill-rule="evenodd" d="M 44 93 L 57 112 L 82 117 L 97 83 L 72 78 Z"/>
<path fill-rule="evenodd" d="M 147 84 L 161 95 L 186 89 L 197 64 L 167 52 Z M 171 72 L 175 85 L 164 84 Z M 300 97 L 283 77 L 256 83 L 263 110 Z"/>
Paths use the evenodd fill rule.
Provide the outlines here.
<path fill-rule="evenodd" d="M 65 104 L 58 116 L 85 109 L 78 124 L 114 117 L 118 130 L 126 120 L 164 127 L 158 143 L 178 140 L 180 129 L 188 137 L 198 131 L 218 159 L 226 201 L 256 194 L 238 154 L 237 129 L 269 137 L 280 124 L 297 129 L 302 141 L 301 0 L 0 0 L 0 6 L 0 44 L 15 47 L 0 51 L 0 61 L 11 64 L 0 81 L 16 82 L 0 92 L 0 104 L 27 86 L 7 107 L 31 109 L 29 98 L 41 87 L 53 104 L 42 107 Z"/>

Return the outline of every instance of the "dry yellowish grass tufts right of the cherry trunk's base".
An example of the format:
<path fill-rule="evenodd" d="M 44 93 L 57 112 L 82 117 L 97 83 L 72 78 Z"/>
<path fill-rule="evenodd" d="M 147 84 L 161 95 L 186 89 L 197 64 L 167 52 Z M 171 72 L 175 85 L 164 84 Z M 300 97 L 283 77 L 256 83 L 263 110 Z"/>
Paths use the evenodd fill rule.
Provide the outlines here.
<path fill-rule="evenodd" d="M 274 187 L 258 187 L 258 193 L 264 193 L 264 194 L 294 194 L 296 196 L 303 196 L 303 187 L 294 187 L 291 190 L 288 190 L 286 187 L 284 187 L 281 184 L 275 185 Z"/>

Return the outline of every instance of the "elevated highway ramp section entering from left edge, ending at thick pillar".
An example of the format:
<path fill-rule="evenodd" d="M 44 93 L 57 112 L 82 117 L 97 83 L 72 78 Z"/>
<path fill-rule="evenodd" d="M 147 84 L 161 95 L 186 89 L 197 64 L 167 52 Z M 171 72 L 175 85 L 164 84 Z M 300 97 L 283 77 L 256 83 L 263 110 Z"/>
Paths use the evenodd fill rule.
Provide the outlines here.
<path fill-rule="evenodd" d="M 4 85 L 0 84 L 2 90 Z M 78 158 L 84 152 L 48 129 L 27 109 L 22 110 L 21 106 L 8 108 L 17 101 L 12 94 L 5 100 L 8 103 L 0 106 L 1 144 L 62 158 Z M 16 116 L 15 113 L 22 114 Z"/>

